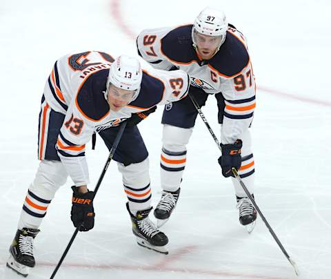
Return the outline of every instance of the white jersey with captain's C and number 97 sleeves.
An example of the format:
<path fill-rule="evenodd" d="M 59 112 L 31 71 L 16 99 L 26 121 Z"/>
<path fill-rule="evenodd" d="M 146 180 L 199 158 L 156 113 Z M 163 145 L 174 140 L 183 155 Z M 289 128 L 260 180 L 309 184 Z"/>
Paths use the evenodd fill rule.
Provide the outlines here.
<path fill-rule="evenodd" d="M 245 37 L 230 26 L 220 50 L 201 60 L 192 46 L 192 25 L 143 30 L 137 37 L 139 55 L 154 68 L 179 68 L 192 86 L 225 99 L 221 142 L 234 143 L 247 129 L 255 108 L 255 82 Z"/>

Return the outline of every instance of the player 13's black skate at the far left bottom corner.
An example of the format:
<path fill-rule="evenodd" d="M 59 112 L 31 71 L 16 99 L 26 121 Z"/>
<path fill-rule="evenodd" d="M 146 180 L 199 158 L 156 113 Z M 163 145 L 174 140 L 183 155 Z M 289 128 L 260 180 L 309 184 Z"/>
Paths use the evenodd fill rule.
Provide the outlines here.
<path fill-rule="evenodd" d="M 36 264 L 33 257 L 33 241 L 37 233 L 39 233 L 39 229 L 23 228 L 17 230 L 10 245 L 10 257 L 7 260 L 7 267 L 21 276 L 28 276 L 30 267 L 34 267 Z"/>

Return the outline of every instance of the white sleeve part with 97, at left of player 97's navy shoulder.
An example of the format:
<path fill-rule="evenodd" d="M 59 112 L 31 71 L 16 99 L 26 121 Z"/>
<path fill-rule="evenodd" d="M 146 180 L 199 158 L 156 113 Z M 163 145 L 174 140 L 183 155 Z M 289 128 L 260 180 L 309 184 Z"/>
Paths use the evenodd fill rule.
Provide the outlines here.
<path fill-rule="evenodd" d="M 170 70 L 174 66 L 161 50 L 161 39 L 171 30 L 172 28 L 146 29 L 137 37 L 138 54 L 153 68 Z"/>

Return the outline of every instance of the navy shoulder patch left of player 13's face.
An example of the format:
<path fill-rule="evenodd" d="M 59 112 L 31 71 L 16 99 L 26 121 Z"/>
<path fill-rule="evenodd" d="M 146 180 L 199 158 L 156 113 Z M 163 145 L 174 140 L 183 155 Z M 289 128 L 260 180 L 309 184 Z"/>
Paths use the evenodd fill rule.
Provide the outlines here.
<path fill-rule="evenodd" d="M 76 104 L 79 111 L 92 121 L 99 121 L 110 111 L 103 94 L 106 90 L 108 73 L 109 69 L 104 69 L 91 74 L 83 81 L 77 93 Z"/>

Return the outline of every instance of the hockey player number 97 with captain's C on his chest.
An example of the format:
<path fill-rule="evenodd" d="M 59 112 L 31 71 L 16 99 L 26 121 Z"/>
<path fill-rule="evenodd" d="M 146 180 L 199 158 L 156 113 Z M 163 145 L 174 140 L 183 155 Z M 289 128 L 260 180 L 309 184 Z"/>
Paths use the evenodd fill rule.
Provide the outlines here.
<path fill-rule="evenodd" d="M 190 75 L 189 94 L 199 106 L 208 95 L 217 99 L 221 124 L 219 157 L 222 174 L 239 171 L 250 193 L 254 191 L 254 157 L 250 124 L 255 108 L 255 82 L 245 37 L 228 24 L 223 11 L 205 8 L 194 24 L 143 30 L 137 37 L 139 55 L 154 68 L 181 69 Z M 165 106 L 162 117 L 161 200 L 154 210 L 159 225 L 170 217 L 177 204 L 185 169 L 186 145 L 197 110 L 190 98 Z M 257 218 L 252 203 L 232 177 L 240 223 L 250 232 Z"/>

